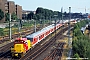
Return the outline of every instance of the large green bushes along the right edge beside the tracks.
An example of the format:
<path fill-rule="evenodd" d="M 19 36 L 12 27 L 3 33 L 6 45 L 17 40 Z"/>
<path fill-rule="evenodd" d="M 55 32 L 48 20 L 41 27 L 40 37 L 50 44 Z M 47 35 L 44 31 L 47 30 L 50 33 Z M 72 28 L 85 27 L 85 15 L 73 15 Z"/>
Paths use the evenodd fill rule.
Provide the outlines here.
<path fill-rule="evenodd" d="M 90 38 L 88 36 L 85 36 L 80 30 L 81 27 L 85 26 L 87 23 L 87 20 L 77 23 L 73 31 L 73 55 L 76 54 L 77 56 L 78 54 L 81 58 L 90 57 Z"/>

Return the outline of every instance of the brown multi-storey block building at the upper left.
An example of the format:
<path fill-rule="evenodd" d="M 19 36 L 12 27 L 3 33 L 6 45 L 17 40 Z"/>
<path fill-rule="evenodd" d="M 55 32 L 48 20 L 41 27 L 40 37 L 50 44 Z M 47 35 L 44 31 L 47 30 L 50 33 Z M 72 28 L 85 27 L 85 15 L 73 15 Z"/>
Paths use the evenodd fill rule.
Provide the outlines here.
<path fill-rule="evenodd" d="M 0 22 L 5 22 L 5 13 L 15 13 L 22 19 L 22 6 L 15 5 L 14 1 L 0 0 L 0 9 L 4 12 L 4 18 Z"/>

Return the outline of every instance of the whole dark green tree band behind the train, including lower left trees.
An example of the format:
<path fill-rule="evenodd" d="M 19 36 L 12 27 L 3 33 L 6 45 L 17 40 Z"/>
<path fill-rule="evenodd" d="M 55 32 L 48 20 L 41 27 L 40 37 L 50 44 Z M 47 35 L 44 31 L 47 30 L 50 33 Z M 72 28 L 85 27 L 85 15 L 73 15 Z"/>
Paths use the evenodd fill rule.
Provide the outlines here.
<path fill-rule="evenodd" d="M 66 13 L 67 14 L 67 13 Z M 51 20 L 51 19 L 54 19 L 55 16 L 54 15 L 57 15 L 57 19 L 60 19 L 61 18 L 61 15 L 62 13 L 59 12 L 59 11 L 52 11 L 52 10 L 49 10 L 49 9 L 46 9 L 46 8 L 42 8 L 42 7 L 38 7 L 36 9 L 36 14 L 34 14 L 33 12 L 30 12 L 28 15 L 27 15 L 27 19 L 34 19 L 34 20 Z"/>

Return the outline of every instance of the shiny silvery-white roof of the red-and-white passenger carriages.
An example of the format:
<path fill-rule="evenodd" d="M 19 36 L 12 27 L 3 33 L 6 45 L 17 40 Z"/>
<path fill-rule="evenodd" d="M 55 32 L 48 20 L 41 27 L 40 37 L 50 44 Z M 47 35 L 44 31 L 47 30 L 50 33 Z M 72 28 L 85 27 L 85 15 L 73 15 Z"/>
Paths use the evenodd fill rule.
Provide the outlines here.
<path fill-rule="evenodd" d="M 38 32 L 35 32 L 35 33 L 33 33 L 33 34 L 30 34 L 30 35 L 26 36 L 26 38 L 32 38 L 32 37 L 38 36 L 38 35 L 40 35 L 41 33 L 45 32 L 45 31 L 47 31 L 47 30 L 50 30 L 50 29 L 53 28 L 53 27 L 54 27 L 54 24 L 49 25 L 49 26 L 43 28 L 42 30 L 40 30 L 40 31 L 38 31 Z"/>

